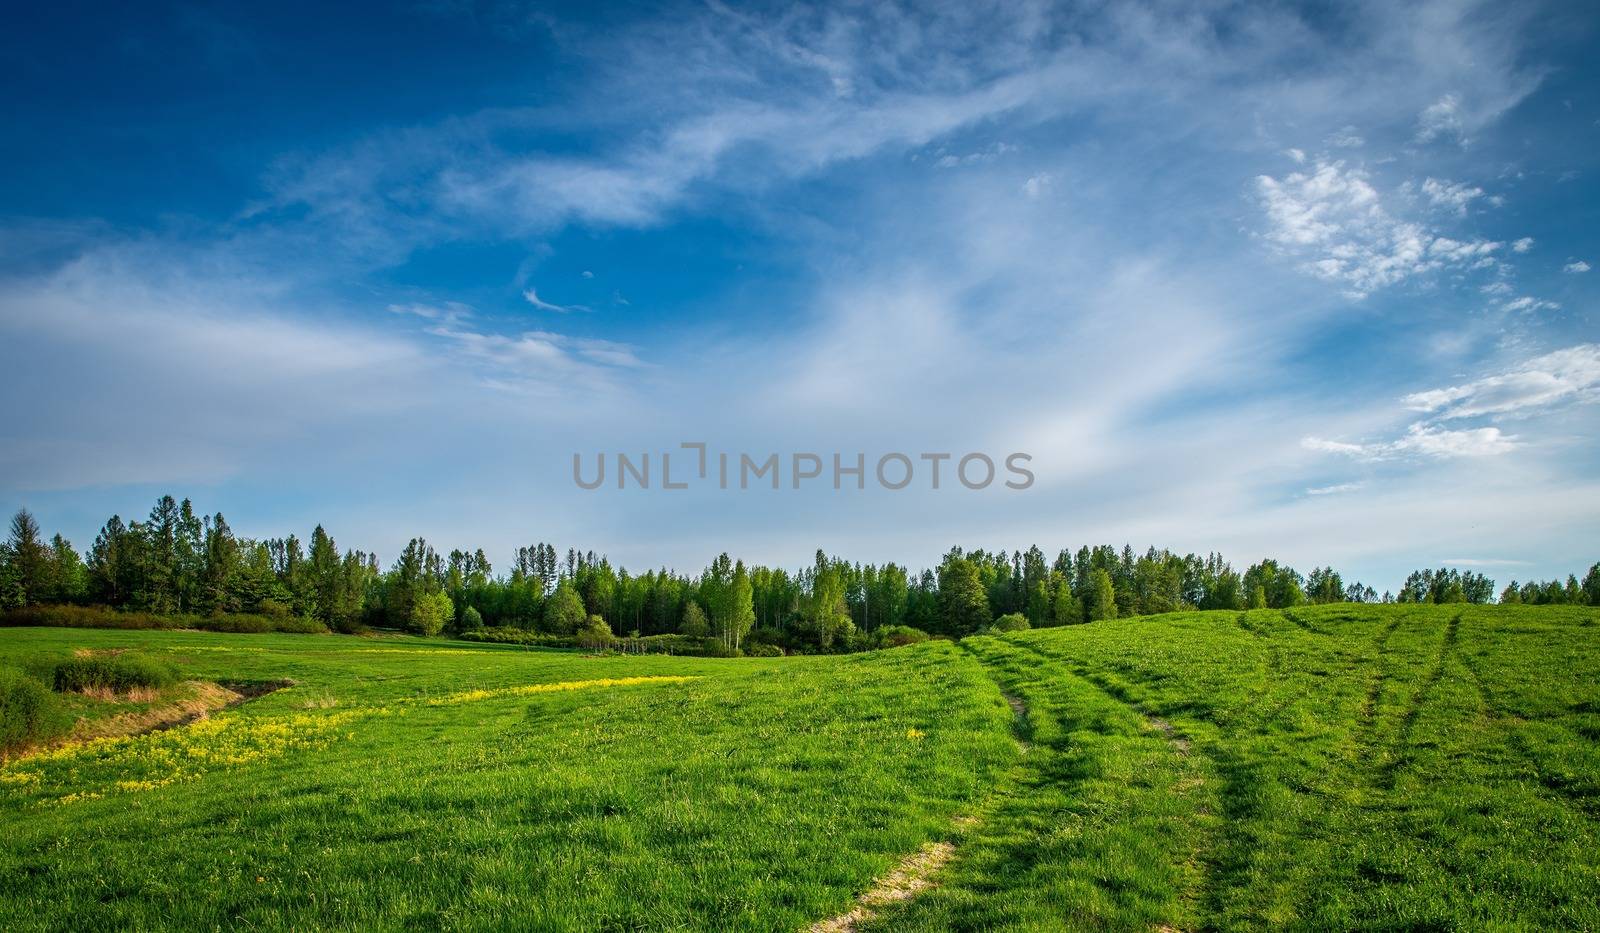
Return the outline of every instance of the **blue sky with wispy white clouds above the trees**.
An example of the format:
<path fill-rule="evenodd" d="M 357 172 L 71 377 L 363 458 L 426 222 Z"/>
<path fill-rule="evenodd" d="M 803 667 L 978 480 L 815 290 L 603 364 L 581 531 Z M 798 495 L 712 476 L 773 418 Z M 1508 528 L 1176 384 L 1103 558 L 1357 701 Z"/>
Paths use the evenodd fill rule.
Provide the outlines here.
<path fill-rule="evenodd" d="M 1581 573 L 1600 18 L 1398 6 L 18 11 L 0 504 L 86 547 L 173 491 L 386 562 Z M 685 440 L 1037 482 L 571 480 Z"/>

